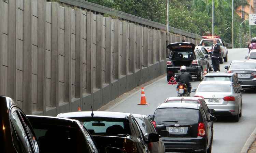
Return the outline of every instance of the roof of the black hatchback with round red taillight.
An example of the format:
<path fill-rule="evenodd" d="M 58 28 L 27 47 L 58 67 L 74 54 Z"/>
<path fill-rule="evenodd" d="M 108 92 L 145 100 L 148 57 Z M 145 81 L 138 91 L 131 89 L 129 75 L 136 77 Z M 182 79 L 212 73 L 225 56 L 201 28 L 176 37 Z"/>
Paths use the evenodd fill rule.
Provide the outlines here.
<path fill-rule="evenodd" d="M 169 107 L 199 109 L 200 106 L 201 105 L 198 103 L 162 103 L 157 107 L 157 109 Z"/>

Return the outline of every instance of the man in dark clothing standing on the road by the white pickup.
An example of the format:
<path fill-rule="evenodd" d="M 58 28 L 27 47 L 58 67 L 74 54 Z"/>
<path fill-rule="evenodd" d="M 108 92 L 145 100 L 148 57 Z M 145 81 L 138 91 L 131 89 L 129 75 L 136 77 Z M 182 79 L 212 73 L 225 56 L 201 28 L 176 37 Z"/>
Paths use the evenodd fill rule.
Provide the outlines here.
<path fill-rule="evenodd" d="M 217 40 L 214 39 L 213 40 L 213 46 L 212 46 L 211 59 L 212 59 L 213 70 L 215 72 L 219 72 L 219 51 L 220 50 L 221 50 L 221 47 L 217 43 Z"/>

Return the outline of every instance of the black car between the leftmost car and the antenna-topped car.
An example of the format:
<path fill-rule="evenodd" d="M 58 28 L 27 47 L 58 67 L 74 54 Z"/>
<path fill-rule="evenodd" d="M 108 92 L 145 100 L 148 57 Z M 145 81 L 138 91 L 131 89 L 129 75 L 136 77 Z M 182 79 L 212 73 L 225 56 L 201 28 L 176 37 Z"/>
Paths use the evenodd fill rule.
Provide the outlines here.
<path fill-rule="evenodd" d="M 93 138 L 79 121 L 27 115 L 42 153 L 98 153 Z"/>

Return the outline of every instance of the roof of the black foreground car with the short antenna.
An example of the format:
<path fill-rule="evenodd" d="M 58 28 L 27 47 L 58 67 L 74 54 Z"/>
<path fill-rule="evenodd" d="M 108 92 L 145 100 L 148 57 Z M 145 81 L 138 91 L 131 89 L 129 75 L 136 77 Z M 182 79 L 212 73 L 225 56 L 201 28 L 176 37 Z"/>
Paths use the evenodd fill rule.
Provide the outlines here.
<path fill-rule="evenodd" d="M 93 117 L 109 117 L 109 118 L 126 118 L 130 113 L 122 112 L 106 112 L 93 111 Z M 91 111 L 60 113 L 57 117 L 73 118 L 73 117 L 90 117 Z"/>

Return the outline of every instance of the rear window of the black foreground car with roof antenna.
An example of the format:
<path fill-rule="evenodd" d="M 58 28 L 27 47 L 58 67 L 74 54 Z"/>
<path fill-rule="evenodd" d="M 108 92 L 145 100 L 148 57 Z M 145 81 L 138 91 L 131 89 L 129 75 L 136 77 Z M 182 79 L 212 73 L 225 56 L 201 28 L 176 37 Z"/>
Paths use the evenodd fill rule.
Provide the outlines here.
<path fill-rule="evenodd" d="M 82 125 L 94 134 L 130 134 L 129 126 L 125 118 L 108 117 L 75 117 Z"/>

